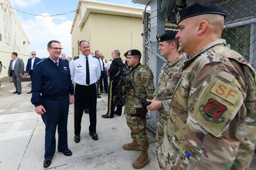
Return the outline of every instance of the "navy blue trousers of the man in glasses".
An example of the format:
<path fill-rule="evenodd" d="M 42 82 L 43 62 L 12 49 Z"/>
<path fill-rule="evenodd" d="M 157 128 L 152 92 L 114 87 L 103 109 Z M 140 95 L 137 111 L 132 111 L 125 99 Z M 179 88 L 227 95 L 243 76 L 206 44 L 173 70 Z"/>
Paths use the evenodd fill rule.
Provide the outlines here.
<path fill-rule="evenodd" d="M 69 95 L 63 100 L 48 100 L 43 98 L 42 105 L 45 114 L 42 114 L 45 123 L 45 159 L 53 157 L 56 150 L 56 128 L 58 126 L 58 150 L 60 152 L 68 149 L 68 108 Z"/>

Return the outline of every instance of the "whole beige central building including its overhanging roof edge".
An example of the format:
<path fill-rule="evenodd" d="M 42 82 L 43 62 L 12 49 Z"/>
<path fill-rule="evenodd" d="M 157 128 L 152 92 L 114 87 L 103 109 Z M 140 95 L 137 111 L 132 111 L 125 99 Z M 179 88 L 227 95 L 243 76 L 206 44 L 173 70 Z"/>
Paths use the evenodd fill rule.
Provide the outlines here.
<path fill-rule="evenodd" d="M 97 1 L 79 1 L 72 34 L 72 56 L 80 54 L 78 42 L 90 42 L 91 51 L 100 50 L 107 60 L 113 50 L 124 53 L 130 49 L 143 49 L 143 8 Z M 142 62 L 142 61 L 141 61 Z"/>

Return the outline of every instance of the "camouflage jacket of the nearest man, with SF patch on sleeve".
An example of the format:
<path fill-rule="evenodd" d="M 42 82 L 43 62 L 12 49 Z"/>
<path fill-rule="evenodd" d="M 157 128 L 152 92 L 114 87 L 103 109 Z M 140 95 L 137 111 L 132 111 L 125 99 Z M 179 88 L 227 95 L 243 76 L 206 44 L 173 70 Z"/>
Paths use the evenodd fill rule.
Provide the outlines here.
<path fill-rule="evenodd" d="M 255 71 L 225 44 L 184 63 L 163 139 L 172 169 L 245 169 L 254 155 Z"/>

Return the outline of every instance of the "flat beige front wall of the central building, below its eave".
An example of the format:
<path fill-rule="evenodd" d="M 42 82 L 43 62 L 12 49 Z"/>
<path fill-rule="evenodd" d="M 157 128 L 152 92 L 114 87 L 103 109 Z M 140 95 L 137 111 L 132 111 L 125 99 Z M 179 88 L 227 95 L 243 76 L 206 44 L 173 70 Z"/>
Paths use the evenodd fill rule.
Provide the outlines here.
<path fill-rule="evenodd" d="M 143 31 L 141 18 L 109 14 L 91 14 L 91 49 L 100 50 L 107 60 L 113 50 L 120 50 L 121 56 L 129 49 L 142 52 Z"/>

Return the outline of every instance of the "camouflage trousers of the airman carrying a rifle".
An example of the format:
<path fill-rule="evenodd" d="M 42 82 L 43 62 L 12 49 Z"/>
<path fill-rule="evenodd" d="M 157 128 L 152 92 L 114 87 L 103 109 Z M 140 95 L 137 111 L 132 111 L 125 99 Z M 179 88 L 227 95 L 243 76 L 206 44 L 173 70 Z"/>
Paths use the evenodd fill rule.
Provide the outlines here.
<path fill-rule="evenodd" d="M 146 118 L 131 117 L 131 114 L 135 113 L 136 108 L 125 105 L 125 118 L 127 120 L 127 125 L 131 130 L 132 140 L 137 141 L 140 150 L 147 150 L 149 147 L 146 132 L 147 120 Z"/>

